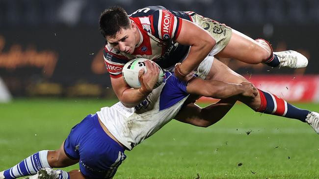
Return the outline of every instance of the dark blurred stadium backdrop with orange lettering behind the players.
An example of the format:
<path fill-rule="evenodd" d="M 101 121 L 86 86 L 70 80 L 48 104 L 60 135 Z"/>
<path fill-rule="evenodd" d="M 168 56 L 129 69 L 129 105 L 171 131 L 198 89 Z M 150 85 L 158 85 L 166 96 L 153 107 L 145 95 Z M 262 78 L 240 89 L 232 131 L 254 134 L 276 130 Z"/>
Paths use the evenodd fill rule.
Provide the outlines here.
<path fill-rule="evenodd" d="M 264 38 L 275 51 L 298 50 L 309 59 L 307 68 L 297 70 L 220 59 L 240 74 L 319 73 L 318 0 L 0 0 L 0 77 L 10 92 L 110 95 L 98 19 L 112 5 L 129 14 L 147 5 L 195 11 L 253 39 Z"/>

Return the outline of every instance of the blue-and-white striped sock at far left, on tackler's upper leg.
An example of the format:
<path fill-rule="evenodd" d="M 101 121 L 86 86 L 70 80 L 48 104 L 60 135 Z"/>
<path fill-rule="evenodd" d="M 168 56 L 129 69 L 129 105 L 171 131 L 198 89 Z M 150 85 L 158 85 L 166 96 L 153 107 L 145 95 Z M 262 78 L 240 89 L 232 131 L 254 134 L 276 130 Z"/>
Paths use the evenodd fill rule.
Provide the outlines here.
<path fill-rule="evenodd" d="M 48 163 L 48 151 L 40 151 L 22 160 L 17 165 L 5 170 L 5 179 L 16 179 L 23 176 L 34 175 L 41 168 L 51 168 Z"/>

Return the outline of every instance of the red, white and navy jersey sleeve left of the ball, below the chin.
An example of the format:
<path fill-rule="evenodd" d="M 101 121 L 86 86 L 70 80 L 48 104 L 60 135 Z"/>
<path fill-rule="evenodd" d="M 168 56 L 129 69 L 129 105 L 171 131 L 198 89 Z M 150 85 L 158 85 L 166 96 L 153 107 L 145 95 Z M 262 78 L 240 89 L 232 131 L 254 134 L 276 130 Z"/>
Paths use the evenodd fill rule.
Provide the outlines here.
<path fill-rule="evenodd" d="M 104 48 L 104 63 L 111 78 L 119 78 L 122 76 L 122 69 L 129 61 L 125 56 L 116 54 L 116 50 L 106 45 Z"/>

